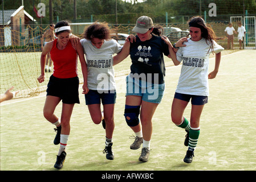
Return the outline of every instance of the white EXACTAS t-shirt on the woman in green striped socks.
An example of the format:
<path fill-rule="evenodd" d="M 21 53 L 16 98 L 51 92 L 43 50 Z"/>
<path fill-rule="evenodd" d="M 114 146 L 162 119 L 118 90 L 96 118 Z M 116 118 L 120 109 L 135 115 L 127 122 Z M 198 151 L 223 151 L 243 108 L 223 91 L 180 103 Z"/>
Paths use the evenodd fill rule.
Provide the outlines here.
<path fill-rule="evenodd" d="M 186 47 L 178 48 L 177 60 L 182 61 L 181 75 L 178 80 L 176 92 L 196 96 L 209 96 L 208 68 L 209 56 L 212 52 L 210 42 L 202 38 L 198 42 L 184 42 Z M 214 52 L 219 53 L 224 48 L 214 41 Z M 209 53 L 208 53 L 209 51 Z"/>

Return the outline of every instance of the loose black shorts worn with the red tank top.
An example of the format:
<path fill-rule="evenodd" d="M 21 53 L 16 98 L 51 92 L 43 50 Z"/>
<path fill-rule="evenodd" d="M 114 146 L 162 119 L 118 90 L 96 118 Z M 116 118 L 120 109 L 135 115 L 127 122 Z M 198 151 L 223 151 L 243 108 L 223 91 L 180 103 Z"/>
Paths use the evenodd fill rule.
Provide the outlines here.
<path fill-rule="evenodd" d="M 56 78 L 51 75 L 47 85 L 47 95 L 59 97 L 64 104 L 80 104 L 79 78 Z"/>

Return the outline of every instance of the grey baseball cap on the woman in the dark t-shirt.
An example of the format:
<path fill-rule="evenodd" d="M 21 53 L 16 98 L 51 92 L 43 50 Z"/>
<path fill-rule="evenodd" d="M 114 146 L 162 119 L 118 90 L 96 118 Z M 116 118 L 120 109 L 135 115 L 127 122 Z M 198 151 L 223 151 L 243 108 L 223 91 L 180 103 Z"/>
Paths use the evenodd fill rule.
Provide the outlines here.
<path fill-rule="evenodd" d="M 136 21 L 136 26 L 132 29 L 133 32 L 145 34 L 149 28 L 152 28 L 154 23 L 148 16 L 140 16 Z"/>

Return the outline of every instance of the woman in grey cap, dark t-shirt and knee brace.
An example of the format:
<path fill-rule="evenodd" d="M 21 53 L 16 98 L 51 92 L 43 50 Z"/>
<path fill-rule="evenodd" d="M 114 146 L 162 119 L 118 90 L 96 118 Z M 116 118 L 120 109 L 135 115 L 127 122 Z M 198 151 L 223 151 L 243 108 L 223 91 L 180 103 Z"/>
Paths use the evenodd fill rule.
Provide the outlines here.
<path fill-rule="evenodd" d="M 162 27 L 154 26 L 148 16 L 140 16 L 132 31 L 137 32 L 134 41 L 125 42 L 122 51 L 114 57 L 114 65 L 131 55 L 124 116 L 136 135 L 130 148 L 137 150 L 143 144 L 139 160 L 147 162 L 153 114 L 164 95 L 164 55 L 170 57 L 169 46 L 161 38 Z"/>

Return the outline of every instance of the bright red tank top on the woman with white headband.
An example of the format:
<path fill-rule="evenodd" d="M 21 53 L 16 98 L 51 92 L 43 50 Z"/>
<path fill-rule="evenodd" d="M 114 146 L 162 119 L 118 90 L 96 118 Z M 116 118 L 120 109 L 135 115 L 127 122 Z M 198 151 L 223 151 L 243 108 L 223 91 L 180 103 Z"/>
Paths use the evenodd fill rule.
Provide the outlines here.
<path fill-rule="evenodd" d="M 63 50 L 59 50 L 56 46 L 57 40 L 54 40 L 50 55 L 54 63 L 53 76 L 57 78 L 73 78 L 78 76 L 77 63 L 78 55 L 72 47 L 70 40 Z"/>

